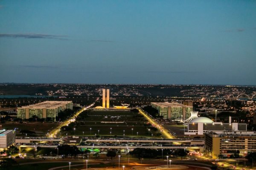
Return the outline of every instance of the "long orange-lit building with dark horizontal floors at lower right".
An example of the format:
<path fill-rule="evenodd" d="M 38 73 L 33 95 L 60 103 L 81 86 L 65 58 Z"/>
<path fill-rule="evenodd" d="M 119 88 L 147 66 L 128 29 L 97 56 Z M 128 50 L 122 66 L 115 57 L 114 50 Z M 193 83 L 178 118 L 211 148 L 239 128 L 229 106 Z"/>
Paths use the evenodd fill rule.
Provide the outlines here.
<path fill-rule="evenodd" d="M 237 153 L 238 150 L 243 156 L 255 152 L 256 132 L 233 131 L 205 135 L 205 153 L 212 159 L 217 159 L 220 154 L 229 157 L 231 154 Z"/>

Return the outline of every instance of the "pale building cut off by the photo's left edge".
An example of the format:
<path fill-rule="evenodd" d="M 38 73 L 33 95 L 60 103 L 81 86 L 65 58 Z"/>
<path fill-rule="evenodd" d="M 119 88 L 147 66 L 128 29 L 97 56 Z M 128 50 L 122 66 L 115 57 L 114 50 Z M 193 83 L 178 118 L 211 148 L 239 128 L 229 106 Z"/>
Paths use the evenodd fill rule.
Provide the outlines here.
<path fill-rule="evenodd" d="M 15 130 L 0 130 L 0 150 L 15 143 Z"/>

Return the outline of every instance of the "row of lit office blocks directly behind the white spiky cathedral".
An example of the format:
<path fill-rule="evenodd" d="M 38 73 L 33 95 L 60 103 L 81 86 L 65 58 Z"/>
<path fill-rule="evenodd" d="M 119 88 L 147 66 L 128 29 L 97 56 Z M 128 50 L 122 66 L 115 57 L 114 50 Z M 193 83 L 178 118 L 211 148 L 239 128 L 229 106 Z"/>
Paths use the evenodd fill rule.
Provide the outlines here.
<path fill-rule="evenodd" d="M 190 111 L 193 111 L 193 106 L 183 105 L 180 103 L 169 102 L 151 102 L 152 108 L 157 109 L 163 119 L 182 119 L 189 118 Z"/>

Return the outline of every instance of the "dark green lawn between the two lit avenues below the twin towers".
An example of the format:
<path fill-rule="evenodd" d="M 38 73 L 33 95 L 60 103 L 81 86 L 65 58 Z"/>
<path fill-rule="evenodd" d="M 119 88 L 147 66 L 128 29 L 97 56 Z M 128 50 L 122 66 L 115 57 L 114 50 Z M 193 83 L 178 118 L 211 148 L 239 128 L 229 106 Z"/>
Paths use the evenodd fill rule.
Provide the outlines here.
<path fill-rule="evenodd" d="M 111 116 L 120 116 L 120 118 L 111 119 Z M 99 136 L 123 136 L 123 134 L 125 134 L 126 137 L 136 137 L 138 132 L 138 137 L 148 137 L 149 127 L 144 126 L 147 120 L 143 116 L 141 116 L 140 113 L 120 111 L 91 111 L 87 117 L 85 117 L 84 119 L 79 119 L 78 121 L 80 125 L 76 126 L 76 130 L 72 130 L 69 132 L 62 131 L 62 136 L 65 136 L 66 134 L 68 136 L 95 136 L 95 134 Z M 156 137 L 156 134 L 160 132 L 150 131 L 150 137 L 152 137 L 152 133 L 153 136 Z"/>

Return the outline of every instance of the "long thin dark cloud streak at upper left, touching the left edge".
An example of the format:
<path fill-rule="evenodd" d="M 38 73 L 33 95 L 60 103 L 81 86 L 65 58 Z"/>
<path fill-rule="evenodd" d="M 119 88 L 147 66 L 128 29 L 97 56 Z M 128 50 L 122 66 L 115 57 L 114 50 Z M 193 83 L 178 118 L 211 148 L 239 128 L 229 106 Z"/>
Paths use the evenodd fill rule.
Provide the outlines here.
<path fill-rule="evenodd" d="M 0 38 L 43 38 L 43 39 L 58 39 L 58 40 L 68 40 L 66 35 L 50 35 L 50 34 L 0 34 Z"/>

